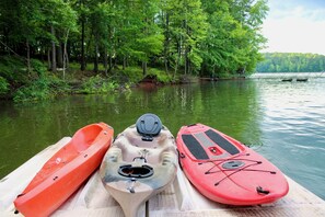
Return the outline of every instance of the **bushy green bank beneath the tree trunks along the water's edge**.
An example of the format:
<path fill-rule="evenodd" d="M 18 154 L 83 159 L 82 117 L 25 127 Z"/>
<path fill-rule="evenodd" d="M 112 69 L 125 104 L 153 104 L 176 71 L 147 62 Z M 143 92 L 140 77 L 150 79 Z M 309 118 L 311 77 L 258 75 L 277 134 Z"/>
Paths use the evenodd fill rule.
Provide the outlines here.
<path fill-rule="evenodd" d="M 143 79 L 151 79 L 161 84 L 178 82 L 172 76 L 158 68 L 148 68 L 143 75 L 140 67 L 116 66 L 112 72 L 104 68 L 93 71 L 89 64 L 84 71 L 79 64 L 72 62 L 67 70 L 48 71 L 39 60 L 31 62 L 27 70 L 25 64 L 13 57 L 0 58 L 0 98 L 14 102 L 42 101 L 65 94 L 94 94 L 127 90 Z"/>

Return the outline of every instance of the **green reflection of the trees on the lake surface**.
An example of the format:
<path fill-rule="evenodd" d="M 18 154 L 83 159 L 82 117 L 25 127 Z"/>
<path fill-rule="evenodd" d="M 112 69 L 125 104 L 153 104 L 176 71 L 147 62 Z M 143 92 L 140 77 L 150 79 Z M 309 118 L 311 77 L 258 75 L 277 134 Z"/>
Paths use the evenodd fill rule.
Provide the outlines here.
<path fill-rule="evenodd" d="M 105 122 L 117 134 L 148 112 L 159 115 L 175 136 L 182 125 L 200 122 L 240 140 L 257 141 L 255 92 L 254 82 L 225 81 L 73 95 L 45 103 L 2 102 L 1 162 L 8 164 L 0 168 L 0 174 L 5 175 L 47 145 L 72 136 L 86 124 Z"/>

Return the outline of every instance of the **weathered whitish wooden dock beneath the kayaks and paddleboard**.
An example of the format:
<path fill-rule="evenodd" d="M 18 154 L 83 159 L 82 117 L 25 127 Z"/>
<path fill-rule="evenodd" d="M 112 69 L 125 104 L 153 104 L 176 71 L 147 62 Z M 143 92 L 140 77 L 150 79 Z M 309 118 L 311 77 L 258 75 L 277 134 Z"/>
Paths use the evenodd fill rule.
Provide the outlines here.
<path fill-rule="evenodd" d="M 65 137 L 49 146 L 0 181 L 0 216 L 18 217 L 13 201 L 42 165 L 71 138 Z M 199 216 L 325 216 L 325 202 L 287 178 L 290 186 L 288 195 L 276 203 L 262 206 L 228 206 L 201 196 L 178 168 L 173 184 L 164 192 L 150 198 L 141 206 L 138 217 L 199 217 Z M 118 203 L 105 191 L 94 172 L 53 216 L 114 216 L 124 217 Z"/>

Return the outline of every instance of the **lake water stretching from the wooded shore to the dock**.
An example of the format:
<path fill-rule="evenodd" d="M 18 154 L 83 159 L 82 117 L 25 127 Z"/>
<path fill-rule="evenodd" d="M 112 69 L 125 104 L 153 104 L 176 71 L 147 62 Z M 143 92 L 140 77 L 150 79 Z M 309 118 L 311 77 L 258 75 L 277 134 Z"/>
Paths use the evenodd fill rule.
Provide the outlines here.
<path fill-rule="evenodd" d="M 48 145 L 86 124 L 115 135 L 144 113 L 176 136 L 182 125 L 210 125 L 253 149 L 325 199 L 325 79 L 252 79 L 73 95 L 54 102 L 0 101 L 0 179 Z"/>

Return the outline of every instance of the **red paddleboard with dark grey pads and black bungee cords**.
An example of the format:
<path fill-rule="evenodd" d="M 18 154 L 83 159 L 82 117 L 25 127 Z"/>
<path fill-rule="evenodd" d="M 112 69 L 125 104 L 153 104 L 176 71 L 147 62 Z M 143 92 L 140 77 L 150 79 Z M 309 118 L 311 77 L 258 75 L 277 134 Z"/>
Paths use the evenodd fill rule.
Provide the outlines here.
<path fill-rule="evenodd" d="M 179 164 L 187 179 L 212 201 L 229 205 L 267 204 L 289 191 L 277 167 L 209 126 L 183 126 L 176 142 Z"/>

